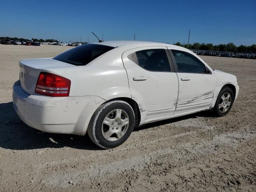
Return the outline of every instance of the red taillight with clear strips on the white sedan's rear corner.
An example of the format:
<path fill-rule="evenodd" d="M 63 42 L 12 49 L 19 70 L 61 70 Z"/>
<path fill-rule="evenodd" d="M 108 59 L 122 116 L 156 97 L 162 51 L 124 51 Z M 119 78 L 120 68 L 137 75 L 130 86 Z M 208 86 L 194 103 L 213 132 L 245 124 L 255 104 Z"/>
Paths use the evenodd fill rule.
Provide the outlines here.
<path fill-rule="evenodd" d="M 35 93 L 52 97 L 67 97 L 70 91 L 70 80 L 64 77 L 41 72 L 37 83 Z"/>

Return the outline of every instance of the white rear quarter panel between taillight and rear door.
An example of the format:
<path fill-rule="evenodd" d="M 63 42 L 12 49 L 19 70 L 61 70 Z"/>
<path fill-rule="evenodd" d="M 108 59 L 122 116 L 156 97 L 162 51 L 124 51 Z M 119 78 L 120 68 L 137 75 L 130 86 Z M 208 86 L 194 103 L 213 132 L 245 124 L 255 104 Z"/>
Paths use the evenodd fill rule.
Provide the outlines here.
<path fill-rule="evenodd" d="M 70 96 L 99 96 L 104 100 L 131 98 L 121 55 L 106 53 L 86 66 L 49 68 L 43 71 L 68 78 L 71 81 Z"/>

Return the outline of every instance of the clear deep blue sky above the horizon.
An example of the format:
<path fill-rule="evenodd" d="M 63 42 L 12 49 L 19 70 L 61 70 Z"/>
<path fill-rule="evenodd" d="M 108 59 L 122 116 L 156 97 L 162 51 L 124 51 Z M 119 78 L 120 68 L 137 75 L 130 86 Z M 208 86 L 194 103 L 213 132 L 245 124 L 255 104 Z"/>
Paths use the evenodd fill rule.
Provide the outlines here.
<path fill-rule="evenodd" d="M 256 44 L 256 0 L 1 0 L 0 36 Z"/>

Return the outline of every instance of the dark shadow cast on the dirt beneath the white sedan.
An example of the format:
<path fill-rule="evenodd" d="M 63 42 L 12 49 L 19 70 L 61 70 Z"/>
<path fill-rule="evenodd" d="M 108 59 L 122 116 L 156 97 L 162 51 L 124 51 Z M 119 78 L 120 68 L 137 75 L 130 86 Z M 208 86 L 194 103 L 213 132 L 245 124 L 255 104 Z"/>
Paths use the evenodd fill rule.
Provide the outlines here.
<path fill-rule="evenodd" d="M 197 116 L 200 116 L 200 114 L 154 122 L 136 127 L 134 131 L 170 124 L 189 118 L 197 118 Z M 101 150 L 101 148 L 90 140 L 87 134 L 85 136 L 52 134 L 41 132 L 27 126 L 16 114 L 12 102 L 0 104 L 0 133 L 0 147 L 6 149 L 29 150 L 70 147 L 83 150 Z"/>

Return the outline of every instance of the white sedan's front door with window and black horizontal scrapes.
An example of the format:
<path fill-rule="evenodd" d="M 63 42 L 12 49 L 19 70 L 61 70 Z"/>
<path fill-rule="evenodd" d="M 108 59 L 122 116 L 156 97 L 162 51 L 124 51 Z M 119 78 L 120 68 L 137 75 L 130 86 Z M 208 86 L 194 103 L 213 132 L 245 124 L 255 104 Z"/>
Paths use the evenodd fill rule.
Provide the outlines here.
<path fill-rule="evenodd" d="M 170 48 L 179 80 L 179 96 L 175 114 L 210 108 L 215 89 L 215 76 L 192 53 Z"/>

